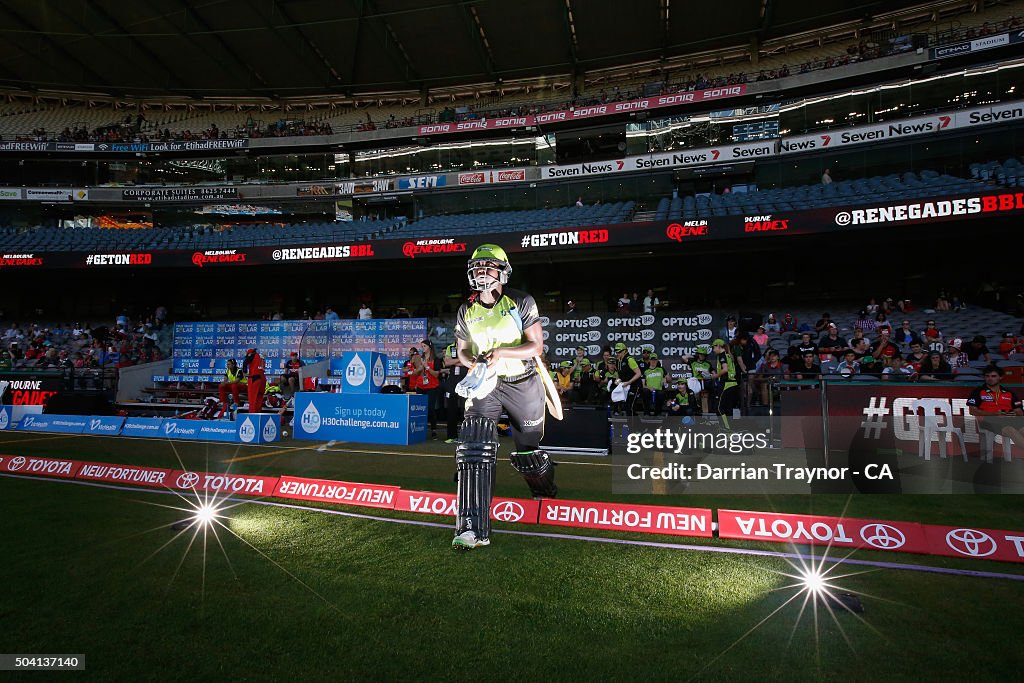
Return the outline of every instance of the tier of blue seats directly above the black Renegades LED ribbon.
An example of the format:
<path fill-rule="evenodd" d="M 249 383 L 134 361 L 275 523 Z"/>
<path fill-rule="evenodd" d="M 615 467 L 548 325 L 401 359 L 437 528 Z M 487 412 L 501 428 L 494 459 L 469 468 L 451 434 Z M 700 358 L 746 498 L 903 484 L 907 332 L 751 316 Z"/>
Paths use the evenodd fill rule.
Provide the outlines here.
<path fill-rule="evenodd" d="M 230 249 L 274 244 L 316 244 L 332 241 L 378 240 L 391 237 L 431 238 L 505 230 L 610 225 L 636 219 L 692 220 L 714 216 L 764 215 L 830 206 L 856 206 L 978 191 L 993 182 L 1016 185 L 1024 173 L 1015 159 L 971 166 L 971 179 L 924 170 L 856 180 L 839 180 L 724 195 L 663 198 L 653 212 L 638 213 L 634 202 L 595 204 L 526 211 L 489 211 L 434 215 L 409 222 L 406 218 L 354 222 L 264 223 L 216 228 L 106 229 L 100 227 L 0 228 L 0 248 L 17 251 L 94 251 L 138 249 Z M 1020 173 L 1020 175 L 1018 175 Z M 400 234 L 394 234 L 400 232 Z"/>

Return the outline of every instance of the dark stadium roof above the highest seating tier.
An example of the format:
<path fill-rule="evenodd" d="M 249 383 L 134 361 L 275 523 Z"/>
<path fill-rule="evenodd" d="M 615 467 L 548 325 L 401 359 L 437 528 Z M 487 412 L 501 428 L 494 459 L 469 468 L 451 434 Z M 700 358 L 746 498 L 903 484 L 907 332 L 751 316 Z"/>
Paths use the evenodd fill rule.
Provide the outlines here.
<path fill-rule="evenodd" d="M 0 0 L 0 87 L 112 96 L 421 92 L 749 46 L 948 3 Z"/>

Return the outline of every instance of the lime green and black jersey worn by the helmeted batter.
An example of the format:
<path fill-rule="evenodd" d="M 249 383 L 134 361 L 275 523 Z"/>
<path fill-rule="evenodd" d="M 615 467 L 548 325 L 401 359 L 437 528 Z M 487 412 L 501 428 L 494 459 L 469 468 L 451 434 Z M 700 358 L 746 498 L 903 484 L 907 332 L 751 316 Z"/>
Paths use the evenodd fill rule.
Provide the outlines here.
<path fill-rule="evenodd" d="M 474 295 L 459 308 L 455 336 L 469 344 L 476 356 L 504 347 L 519 346 L 526 341 L 523 330 L 541 319 L 534 297 L 518 290 L 505 289 L 492 305 Z M 502 358 L 495 366 L 499 377 L 522 375 L 534 368 L 532 360 Z"/>

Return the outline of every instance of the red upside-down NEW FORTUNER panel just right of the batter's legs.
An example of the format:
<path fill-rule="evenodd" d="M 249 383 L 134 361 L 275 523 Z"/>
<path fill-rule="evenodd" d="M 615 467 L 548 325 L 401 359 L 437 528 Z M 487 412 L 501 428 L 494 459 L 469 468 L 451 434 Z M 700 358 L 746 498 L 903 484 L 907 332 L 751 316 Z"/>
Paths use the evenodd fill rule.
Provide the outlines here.
<path fill-rule="evenodd" d="M 712 538 L 711 510 L 660 505 L 541 501 L 540 523 L 551 526 Z"/>

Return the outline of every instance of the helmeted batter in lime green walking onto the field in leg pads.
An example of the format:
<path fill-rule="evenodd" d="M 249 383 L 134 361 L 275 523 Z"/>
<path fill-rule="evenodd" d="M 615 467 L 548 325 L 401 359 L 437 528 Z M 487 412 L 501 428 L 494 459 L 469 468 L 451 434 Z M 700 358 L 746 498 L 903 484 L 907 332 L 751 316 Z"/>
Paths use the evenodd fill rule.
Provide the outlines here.
<path fill-rule="evenodd" d="M 474 292 L 459 308 L 456 344 L 459 360 L 470 369 L 467 382 L 494 374 L 493 388 L 470 394 L 456 447 L 458 513 L 453 548 L 468 550 L 490 543 L 490 501 L 498 460 L 498 419 L 504 411 L 512 428 L 514 467 L 537 498 L 553 498 L 554 463 L 540 449 L 544 437 L 547 389 L 538 368 L 544 353 L 540 313 L 534 297 L 506 285 L 512 266 L 505 250 L 481 245 L 467 264 Z M 486 368 L 477 368 L 485 364 Z M 548 396 L 558 401 L 558 396 Z"/>

